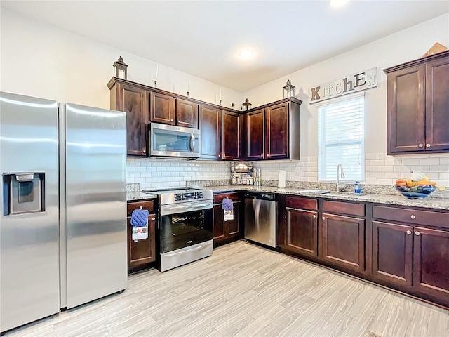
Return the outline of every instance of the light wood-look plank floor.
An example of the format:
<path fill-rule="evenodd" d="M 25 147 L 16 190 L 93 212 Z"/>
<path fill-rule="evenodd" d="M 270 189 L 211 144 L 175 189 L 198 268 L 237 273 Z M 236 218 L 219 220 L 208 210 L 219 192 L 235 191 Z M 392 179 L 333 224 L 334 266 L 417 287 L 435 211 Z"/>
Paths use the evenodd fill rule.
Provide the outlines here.
<path fill-rule="evenodd" d="M 449 311 L 244 241 L 6 337 L 449 336 Z"/>

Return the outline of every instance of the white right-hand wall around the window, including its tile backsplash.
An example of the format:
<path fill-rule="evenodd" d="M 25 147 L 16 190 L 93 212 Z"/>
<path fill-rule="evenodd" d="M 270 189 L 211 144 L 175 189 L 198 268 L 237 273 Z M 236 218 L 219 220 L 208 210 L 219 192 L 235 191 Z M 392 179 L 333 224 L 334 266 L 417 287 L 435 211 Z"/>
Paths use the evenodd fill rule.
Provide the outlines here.
<path fill-rule="evenodd" d="M 386 150 L 387 76 L 382 69 L 421 58 L 435 42 L 449 47 L 449 13 L 246 91 L 244 96 L 256 107 L 283 98 L 283 86 L 290 79 L 296 98 L 303 102 L 300 162 L 257 163 L 262 178 L 277 177 L 284 166 L 288 180 L 317 181 L 318 111 L 309 104 L 309 88 L 377 67 L 377 88 L 365 91 L 365 183 L 391 185 L 401 176 L 410 178 L 414 169 L 449 187 L 448 154 L 387 156 Z"/>

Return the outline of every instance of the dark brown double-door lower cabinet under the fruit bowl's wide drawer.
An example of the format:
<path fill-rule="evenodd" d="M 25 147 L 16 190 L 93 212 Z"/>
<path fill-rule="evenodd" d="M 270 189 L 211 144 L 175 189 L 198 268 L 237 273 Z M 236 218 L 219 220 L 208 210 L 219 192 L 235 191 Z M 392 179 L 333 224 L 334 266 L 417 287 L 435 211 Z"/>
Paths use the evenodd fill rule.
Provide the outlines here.
<path fill-rule="evenodd" d="M 449 232 L 373 221 L 373 274 L 449 305 Z"/>

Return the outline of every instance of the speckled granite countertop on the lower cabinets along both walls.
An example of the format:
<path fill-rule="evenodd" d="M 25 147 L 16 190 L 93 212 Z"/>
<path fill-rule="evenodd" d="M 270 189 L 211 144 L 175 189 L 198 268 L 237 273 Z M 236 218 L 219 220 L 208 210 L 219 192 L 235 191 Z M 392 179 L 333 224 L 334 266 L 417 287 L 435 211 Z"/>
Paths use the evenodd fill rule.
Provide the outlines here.
<path fill-rule="evenodd" d="M 386 205 L 398 205 L 398 206 L 412 206 L 417 208 L 427 208 L 427 209 L 442 209 L 449 211 L 449 199 L 440 199 L 427 197 L 425 199 L 407 199 L 401 194 L 354 194 L 351 192 L 333 192 L 327 194 L 321 193 L 308 193 L 301 192 L 294 188 L 279 188 L 279 187 L 269 187 L 261 186 L 254 187 L 250 185 L 225 185 L 225 186 L 212 186 L 212 187 L 196 187 L 199 190 L 211 190 L 212 192 L 236 192 L 236 191 L 248 191 L 248 192 L 271 192 L 279 194 L 290 194 L 298 197 L 314 197 L 322 199 L 333 199 L 342 201 L 360 201 L 369 202 L 373 204 L 386 204 Z M 127 201 L 145 201 L 156 199 L 156 194 L 148 194 L 142 192 L 127 192 Z"/>

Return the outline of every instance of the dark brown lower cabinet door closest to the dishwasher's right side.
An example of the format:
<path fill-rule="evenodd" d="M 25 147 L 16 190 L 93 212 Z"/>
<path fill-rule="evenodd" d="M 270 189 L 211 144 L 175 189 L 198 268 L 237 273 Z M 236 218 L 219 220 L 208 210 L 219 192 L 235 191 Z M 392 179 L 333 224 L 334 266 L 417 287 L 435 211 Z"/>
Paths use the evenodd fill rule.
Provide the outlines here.
<path fill-rule="evenodd" d="M 287 208 L 287 246 L 296 253 L 318 256 L 318 213 Z"/>

